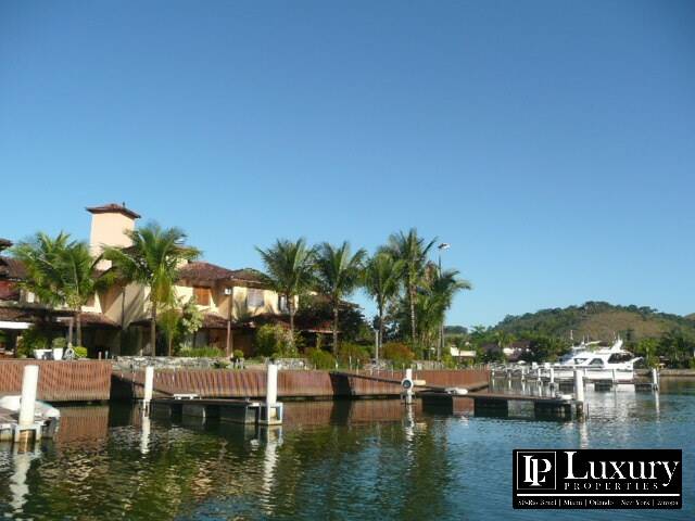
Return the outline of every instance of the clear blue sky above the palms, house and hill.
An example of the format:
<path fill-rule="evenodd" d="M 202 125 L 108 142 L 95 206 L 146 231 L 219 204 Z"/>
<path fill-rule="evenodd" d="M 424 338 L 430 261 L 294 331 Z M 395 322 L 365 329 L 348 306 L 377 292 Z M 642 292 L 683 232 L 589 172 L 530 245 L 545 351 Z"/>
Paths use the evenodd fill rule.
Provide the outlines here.
<path fill-rule="evenodd" d="M 0 237 L 126 201 L 229 267 L 415 226 L 450 323 L 694 313 L 695 2 L 0 0 Z"/>

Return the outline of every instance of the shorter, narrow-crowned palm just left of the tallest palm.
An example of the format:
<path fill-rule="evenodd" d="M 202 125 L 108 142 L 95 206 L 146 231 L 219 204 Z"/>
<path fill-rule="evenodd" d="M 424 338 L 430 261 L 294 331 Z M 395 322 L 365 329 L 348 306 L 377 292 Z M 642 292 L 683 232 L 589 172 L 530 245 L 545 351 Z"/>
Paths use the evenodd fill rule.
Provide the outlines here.
<path fill-rule="evenodd" d="M 379 334 L 375 354 L 377 359 L 379 359 L 379 352 L 383 344 L 384 308 L 387 303 L 399 293 L 403 266 L 403 260 L 396 260 L 389 253 L 380 252 L 366 263 L 363 272 L 363 285 L 365 291 L 377 302 L 379 314 Z"/>

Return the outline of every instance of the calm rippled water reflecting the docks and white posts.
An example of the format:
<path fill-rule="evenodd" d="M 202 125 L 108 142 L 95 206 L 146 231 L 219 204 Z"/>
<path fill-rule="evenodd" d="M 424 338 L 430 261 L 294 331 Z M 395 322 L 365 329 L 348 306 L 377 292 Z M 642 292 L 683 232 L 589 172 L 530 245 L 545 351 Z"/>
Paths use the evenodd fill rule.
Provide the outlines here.
<path fill-rule="evenodd" d="M 695 382 L 658 397 L 587 392 L 584 423 L 410 412 L 397 402 L 287 404 L 282 428 L 64 408 L 36 452 L 0 445 L 5 519 L 695 519 Z M 683 449 L 683 510 L 514 510 L 511 449 Z"/>

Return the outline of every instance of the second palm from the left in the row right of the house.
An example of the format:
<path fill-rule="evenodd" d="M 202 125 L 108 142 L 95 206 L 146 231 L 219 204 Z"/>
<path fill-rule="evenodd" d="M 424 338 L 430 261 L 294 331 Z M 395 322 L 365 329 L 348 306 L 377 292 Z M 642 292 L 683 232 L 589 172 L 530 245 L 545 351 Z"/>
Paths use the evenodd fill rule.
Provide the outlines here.
<path fill-rule="evenodd" d="M 338 315 L 340 301 L 359 284 L 362 265 L 367 252 L 357 250 L 351 255 L 350 243 L 339 247 L 325 242 L 316 258 L 317 290 L 330 298 L 333 308 L 333 354 L 338 354 Z"/>

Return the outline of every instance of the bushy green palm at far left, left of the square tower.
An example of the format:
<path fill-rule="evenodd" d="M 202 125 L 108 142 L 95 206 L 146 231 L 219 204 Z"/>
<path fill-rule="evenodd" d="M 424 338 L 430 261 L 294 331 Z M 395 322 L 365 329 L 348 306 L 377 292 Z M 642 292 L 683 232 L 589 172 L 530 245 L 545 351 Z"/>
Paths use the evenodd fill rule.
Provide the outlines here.
<path fill-rule="evenodd" d="M 71 241 L 64 232 L 55 238 L 39 232 L 17 244 L 14 255 L 26 268 L 25 289 L 43 304 L 66 306 L 74 313 L 77 345 L 81 345 L 81 308 L 112 282 L 97 270 L 101 256 L 92 257 L 86 242 Z"/>

